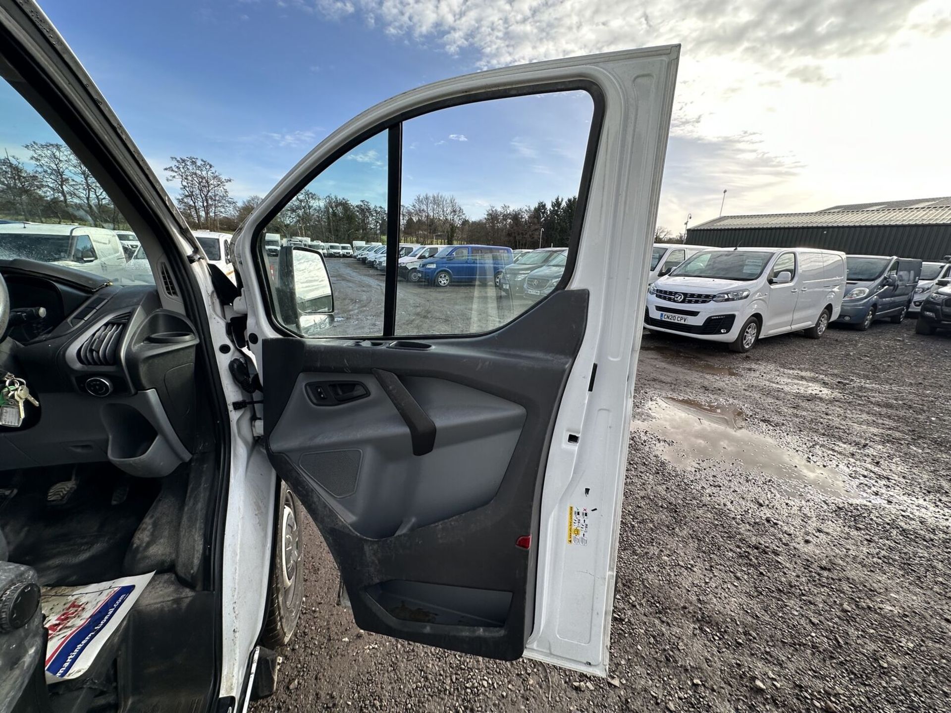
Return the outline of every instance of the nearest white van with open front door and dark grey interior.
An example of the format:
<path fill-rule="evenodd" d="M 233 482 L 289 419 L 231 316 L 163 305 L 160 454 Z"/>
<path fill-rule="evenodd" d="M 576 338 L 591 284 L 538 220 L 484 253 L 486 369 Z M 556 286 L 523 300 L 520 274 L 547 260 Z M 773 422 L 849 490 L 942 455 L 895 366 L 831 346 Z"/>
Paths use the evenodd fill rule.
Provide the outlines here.
<path fill-rule="evenodd" d="M 113 279 L 125 260 L 110 231 L 0 234 L 0 324 L 47 312 L 0 330 L 2 368 L 40 404 L 0 426 L 0 707 L 247 710 L 275 689 L 301 615 L 304 510 L 359 628 L 606 677 L 637 361 L 623 325 L 645 288 L 639 217 L 657 211 L 679 48 L 479 71 L 360 112 L 244 219 L 237 295 L 196 260 L 165 183 L 43 11 L 0 0 L 0 37 L 0 145 L 59 129 L 153 277 Z M 412 117 L 448 125 L 458 106 L 564 87 L 608 109 L 584 132 L 575 236 L 578 264 L 601 269 L 488 335 L 399 335 L 391 290 L 380 333 L 322 338 L 335 299 L 365 302 L 334 294 L 319 251 L 265 232 L 302 186 L 368 136 L 389 134 L 386 160 L 402 164 Z M 33 219 L 22 205 L 4 219 Z M 512 260 L 464 247 L 454 269 L 473 260 L 474 279 Z"/>

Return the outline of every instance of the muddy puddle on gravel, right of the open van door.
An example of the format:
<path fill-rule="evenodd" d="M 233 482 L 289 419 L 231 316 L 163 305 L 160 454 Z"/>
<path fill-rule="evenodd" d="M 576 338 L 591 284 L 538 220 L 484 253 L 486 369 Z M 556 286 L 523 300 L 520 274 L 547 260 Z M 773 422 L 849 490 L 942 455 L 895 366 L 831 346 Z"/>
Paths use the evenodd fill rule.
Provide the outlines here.
<path fill-rule="evenodd" d="M 864 500 L 841 472 L 810 463 L 767 435 L 744 427 L 747 419 L 733 406 L 679 398 L 658 398 L 648 407 L 652 418 L 635 421 L 635 429 L 662 439 L 661 454 L 675 466 L 693 468 L 710 460 L 739 463 L 747 472 L 762 472 L 786 483 L 810 486 L 826 495 Z"/>

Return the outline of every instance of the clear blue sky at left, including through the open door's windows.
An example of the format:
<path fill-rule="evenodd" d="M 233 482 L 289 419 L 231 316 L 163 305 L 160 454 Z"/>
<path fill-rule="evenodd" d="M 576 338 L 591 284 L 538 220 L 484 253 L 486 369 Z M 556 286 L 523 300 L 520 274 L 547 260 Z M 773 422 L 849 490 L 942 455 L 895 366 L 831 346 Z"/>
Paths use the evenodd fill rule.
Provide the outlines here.
<path fill-rule="evenodd" d="M 273 2 L 42 6 L 153 168 L 199 156 L 233 179 L 239 200 L 265 193 L 368 106 L 478 68 L 471 55 L 387 35 L 364 18 Z M 574 195 L 591 107 L 586 94 L 526 97 L 407 122 L 404 202 L 453 194 L 477 218 L 491 203 Z M 385 204 L 385 142 L 370 140 L 356 157 L 311 188 Z"/>

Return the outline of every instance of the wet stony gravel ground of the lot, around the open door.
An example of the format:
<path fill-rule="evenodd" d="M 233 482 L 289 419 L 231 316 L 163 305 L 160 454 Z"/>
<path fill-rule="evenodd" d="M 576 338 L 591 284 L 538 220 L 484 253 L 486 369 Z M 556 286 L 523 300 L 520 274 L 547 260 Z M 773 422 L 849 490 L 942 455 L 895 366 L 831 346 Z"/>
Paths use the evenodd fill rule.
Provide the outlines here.
<path fill-rule="evenodd" d="M 949 376 L 951 337 L 912 320 L 743 356 L 646 336 L 610 680 L 359 632 L 308 521 L 252 709 L 951 710 Z"/>

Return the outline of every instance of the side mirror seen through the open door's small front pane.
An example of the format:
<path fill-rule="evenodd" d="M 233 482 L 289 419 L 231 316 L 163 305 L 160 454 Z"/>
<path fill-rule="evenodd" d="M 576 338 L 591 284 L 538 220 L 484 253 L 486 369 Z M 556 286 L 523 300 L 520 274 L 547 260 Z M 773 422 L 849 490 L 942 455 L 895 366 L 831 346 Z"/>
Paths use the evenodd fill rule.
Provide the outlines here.
<path fill-rule="evenodd" d="M 275 285 L 281 321 L 310 337 L 334 321 L 334 288 L 327 264 L 317 250 L 284 245 L 278 254 Z"/>

